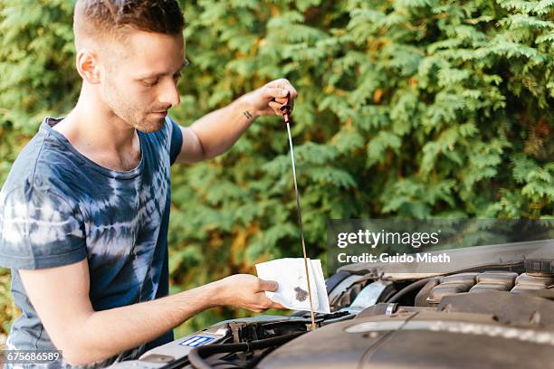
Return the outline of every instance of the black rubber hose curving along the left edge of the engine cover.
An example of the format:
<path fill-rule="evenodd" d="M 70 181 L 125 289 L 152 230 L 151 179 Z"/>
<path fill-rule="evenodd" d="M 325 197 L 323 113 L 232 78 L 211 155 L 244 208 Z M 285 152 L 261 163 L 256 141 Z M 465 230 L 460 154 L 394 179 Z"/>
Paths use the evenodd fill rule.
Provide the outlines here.
<path fill-rule="evenodd" d="M 244 342 L 241 344 L 215 344 L 202 345 L 193 348 L 188 354 L 188 361 L 195 369 L 212 369 L 210 364 L 207 364 L 205 357 L 215 354 L 236 353 L 241 351 L 258 350 L 261 348 L 272 347 L 274 345 L 282 345 L 289 342 L 291 339 L 303 335 L 306 332 L 291 333 L 286 336 L 278 336 L 258 341 Z"/>

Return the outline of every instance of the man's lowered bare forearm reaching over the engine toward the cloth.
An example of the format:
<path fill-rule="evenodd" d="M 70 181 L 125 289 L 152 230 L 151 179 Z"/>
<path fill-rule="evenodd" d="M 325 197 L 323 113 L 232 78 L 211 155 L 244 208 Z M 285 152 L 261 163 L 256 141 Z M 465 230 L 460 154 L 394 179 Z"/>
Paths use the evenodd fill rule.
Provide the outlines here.
<path fill-rule="evenodd" d="M 71 364 L 87 364 L 147 343 L 218 305 L 218 289 L 214 282 L 166 298 L 93 312 L 74 333 L 70 352 L 63 355 Z"/>

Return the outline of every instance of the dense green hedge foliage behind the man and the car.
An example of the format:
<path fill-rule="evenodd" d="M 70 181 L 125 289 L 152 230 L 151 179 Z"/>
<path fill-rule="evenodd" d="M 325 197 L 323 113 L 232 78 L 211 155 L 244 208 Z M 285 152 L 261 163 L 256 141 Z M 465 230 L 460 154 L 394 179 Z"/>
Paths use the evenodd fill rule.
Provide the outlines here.
<path fill-rule="evenodd" d="M 41 118 L 76 99 L 71 10 L 0 5 L 0 180 Z M 552 217 L 553 10 L 551 0 L 186 2 L 191 66 L 173 116 L 188 125 L 269 80 L 293 82 L 311 257 L 324 258 L 330 218 Z M 173 174 L 175 291 L 300 255 L 279 119 Z M 211 310 L 179 332 L 240 314 Z"/>

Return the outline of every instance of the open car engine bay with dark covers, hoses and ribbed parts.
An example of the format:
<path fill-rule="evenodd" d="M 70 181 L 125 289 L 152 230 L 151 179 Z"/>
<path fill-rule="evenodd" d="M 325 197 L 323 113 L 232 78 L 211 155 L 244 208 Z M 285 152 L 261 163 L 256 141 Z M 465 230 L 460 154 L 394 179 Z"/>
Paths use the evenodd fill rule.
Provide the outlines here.
<path fill-rule="evenodd" d="M 554 363 L 554 259 L 443 275 L 339 270 L 331 313 L 220 322 L 114 367 L 528 368 Z M 523 363 L 524 361 L 524 363 Z"/>

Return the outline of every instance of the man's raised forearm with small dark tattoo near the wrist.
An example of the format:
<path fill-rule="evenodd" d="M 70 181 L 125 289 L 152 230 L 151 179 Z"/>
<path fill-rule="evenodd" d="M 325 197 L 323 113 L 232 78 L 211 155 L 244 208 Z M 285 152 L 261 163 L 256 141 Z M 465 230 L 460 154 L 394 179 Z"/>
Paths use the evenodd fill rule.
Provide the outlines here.
<path fill-rule="evenodd" d="M 209 159 L 232 147 L 255 118 L 257 115 L 243 97 L 199 118 L 190 129 L 201 142 L 204 158 Z"/>

